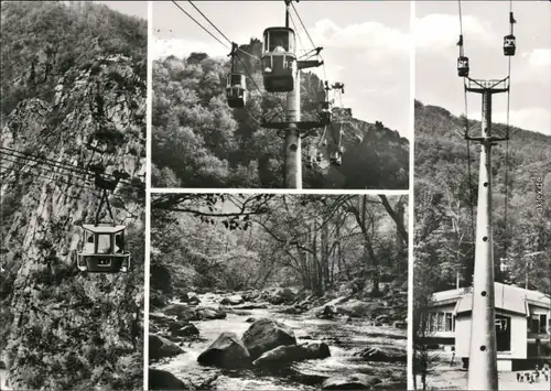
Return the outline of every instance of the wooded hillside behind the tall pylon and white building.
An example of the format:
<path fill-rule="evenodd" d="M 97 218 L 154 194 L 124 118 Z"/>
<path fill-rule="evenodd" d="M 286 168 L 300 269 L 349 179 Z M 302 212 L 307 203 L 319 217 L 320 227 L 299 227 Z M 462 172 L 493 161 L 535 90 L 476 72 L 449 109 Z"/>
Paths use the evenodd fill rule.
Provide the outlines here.
<path fill-rule="evenodd" d="M 476 219 L 479 145 L 471 145 L 469 186 L 463 118 L 415 101 L 415 292 L 454 289 L 472 282 L 471 205 Z M 471 121 L 474 133 L 479 122 Z M 495 123 L 503 132 L 505 124 Z M 511 129 L 493 148 L 493 227 L 496 281 L 550 293 L 551 137 Z M 506 187 L 507 169 L 507 187 Z M 471 200 L 471 192 L 473 199 Z M 539 203 L 541 191 L 542 203 Z M 507 199 L 507 208 L 506 206 Z M 476 221 L 473 222 L 476 225 Z"/>

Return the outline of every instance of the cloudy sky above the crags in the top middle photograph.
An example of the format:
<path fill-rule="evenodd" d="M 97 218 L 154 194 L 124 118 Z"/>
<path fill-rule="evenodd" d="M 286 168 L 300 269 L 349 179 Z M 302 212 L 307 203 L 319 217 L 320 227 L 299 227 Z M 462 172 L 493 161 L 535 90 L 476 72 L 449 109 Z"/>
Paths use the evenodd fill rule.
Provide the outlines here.
<path fill-rule="evenodd" d="M 195 6 L 231 41 L 248 44 L 262 39 L 266 28 L 284 25 L 283 1 L 195 1 Z M 179 4 L 205 28 L 226 41 L 186 1 Z M 343 106 L 355 118 L 376 120 L 409 138 L 410 34 L 409 1 L 309 1 L 294 3 L 316 46 L 323 46 L 325 75 L 329 83 L 345 84 Z M 300 21 L 299 53 L 312 48 Z M 292 26 L 292 24 L 291 24 Z M 153 2 L 154 58 L 192 52 L 227 56 L 225 47 L 203 31 L 171 1 Z M 226 57 L 227 58 L 227 57 Z M 323 68 L 315 69 L 318 76 Z"/>

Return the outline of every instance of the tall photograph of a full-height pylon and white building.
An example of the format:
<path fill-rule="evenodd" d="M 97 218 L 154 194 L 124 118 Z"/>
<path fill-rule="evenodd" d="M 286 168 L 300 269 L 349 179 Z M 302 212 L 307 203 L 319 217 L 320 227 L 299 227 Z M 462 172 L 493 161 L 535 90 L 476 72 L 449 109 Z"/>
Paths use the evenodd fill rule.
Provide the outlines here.
<path fill-rule="evenodd" d="M 415 390 L 551 387 L 550 20 L 415 3 Z"/>

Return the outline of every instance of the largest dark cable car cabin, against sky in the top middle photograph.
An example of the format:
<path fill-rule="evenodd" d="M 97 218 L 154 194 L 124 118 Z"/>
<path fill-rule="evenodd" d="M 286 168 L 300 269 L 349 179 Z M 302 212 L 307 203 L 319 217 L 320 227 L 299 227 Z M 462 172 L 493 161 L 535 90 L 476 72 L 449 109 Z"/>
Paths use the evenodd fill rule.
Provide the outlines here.
<path fill-rule="evenodd" d="M 294 89 L 296 70 L 295 35 L 292 29 L 264 30 L 261 57 L 264 89 L 269 93 L 289 93 Z"/>

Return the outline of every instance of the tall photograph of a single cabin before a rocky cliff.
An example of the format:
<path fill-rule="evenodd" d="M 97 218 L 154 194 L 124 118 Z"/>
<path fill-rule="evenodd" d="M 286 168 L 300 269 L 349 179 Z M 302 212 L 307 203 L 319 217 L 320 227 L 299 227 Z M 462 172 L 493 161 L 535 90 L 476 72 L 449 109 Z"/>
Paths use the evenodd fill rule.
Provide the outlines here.
<path fill-rule="evenodd" d="M 147 11 L 2 1 L 1 390 L 143 389 Z"/>

